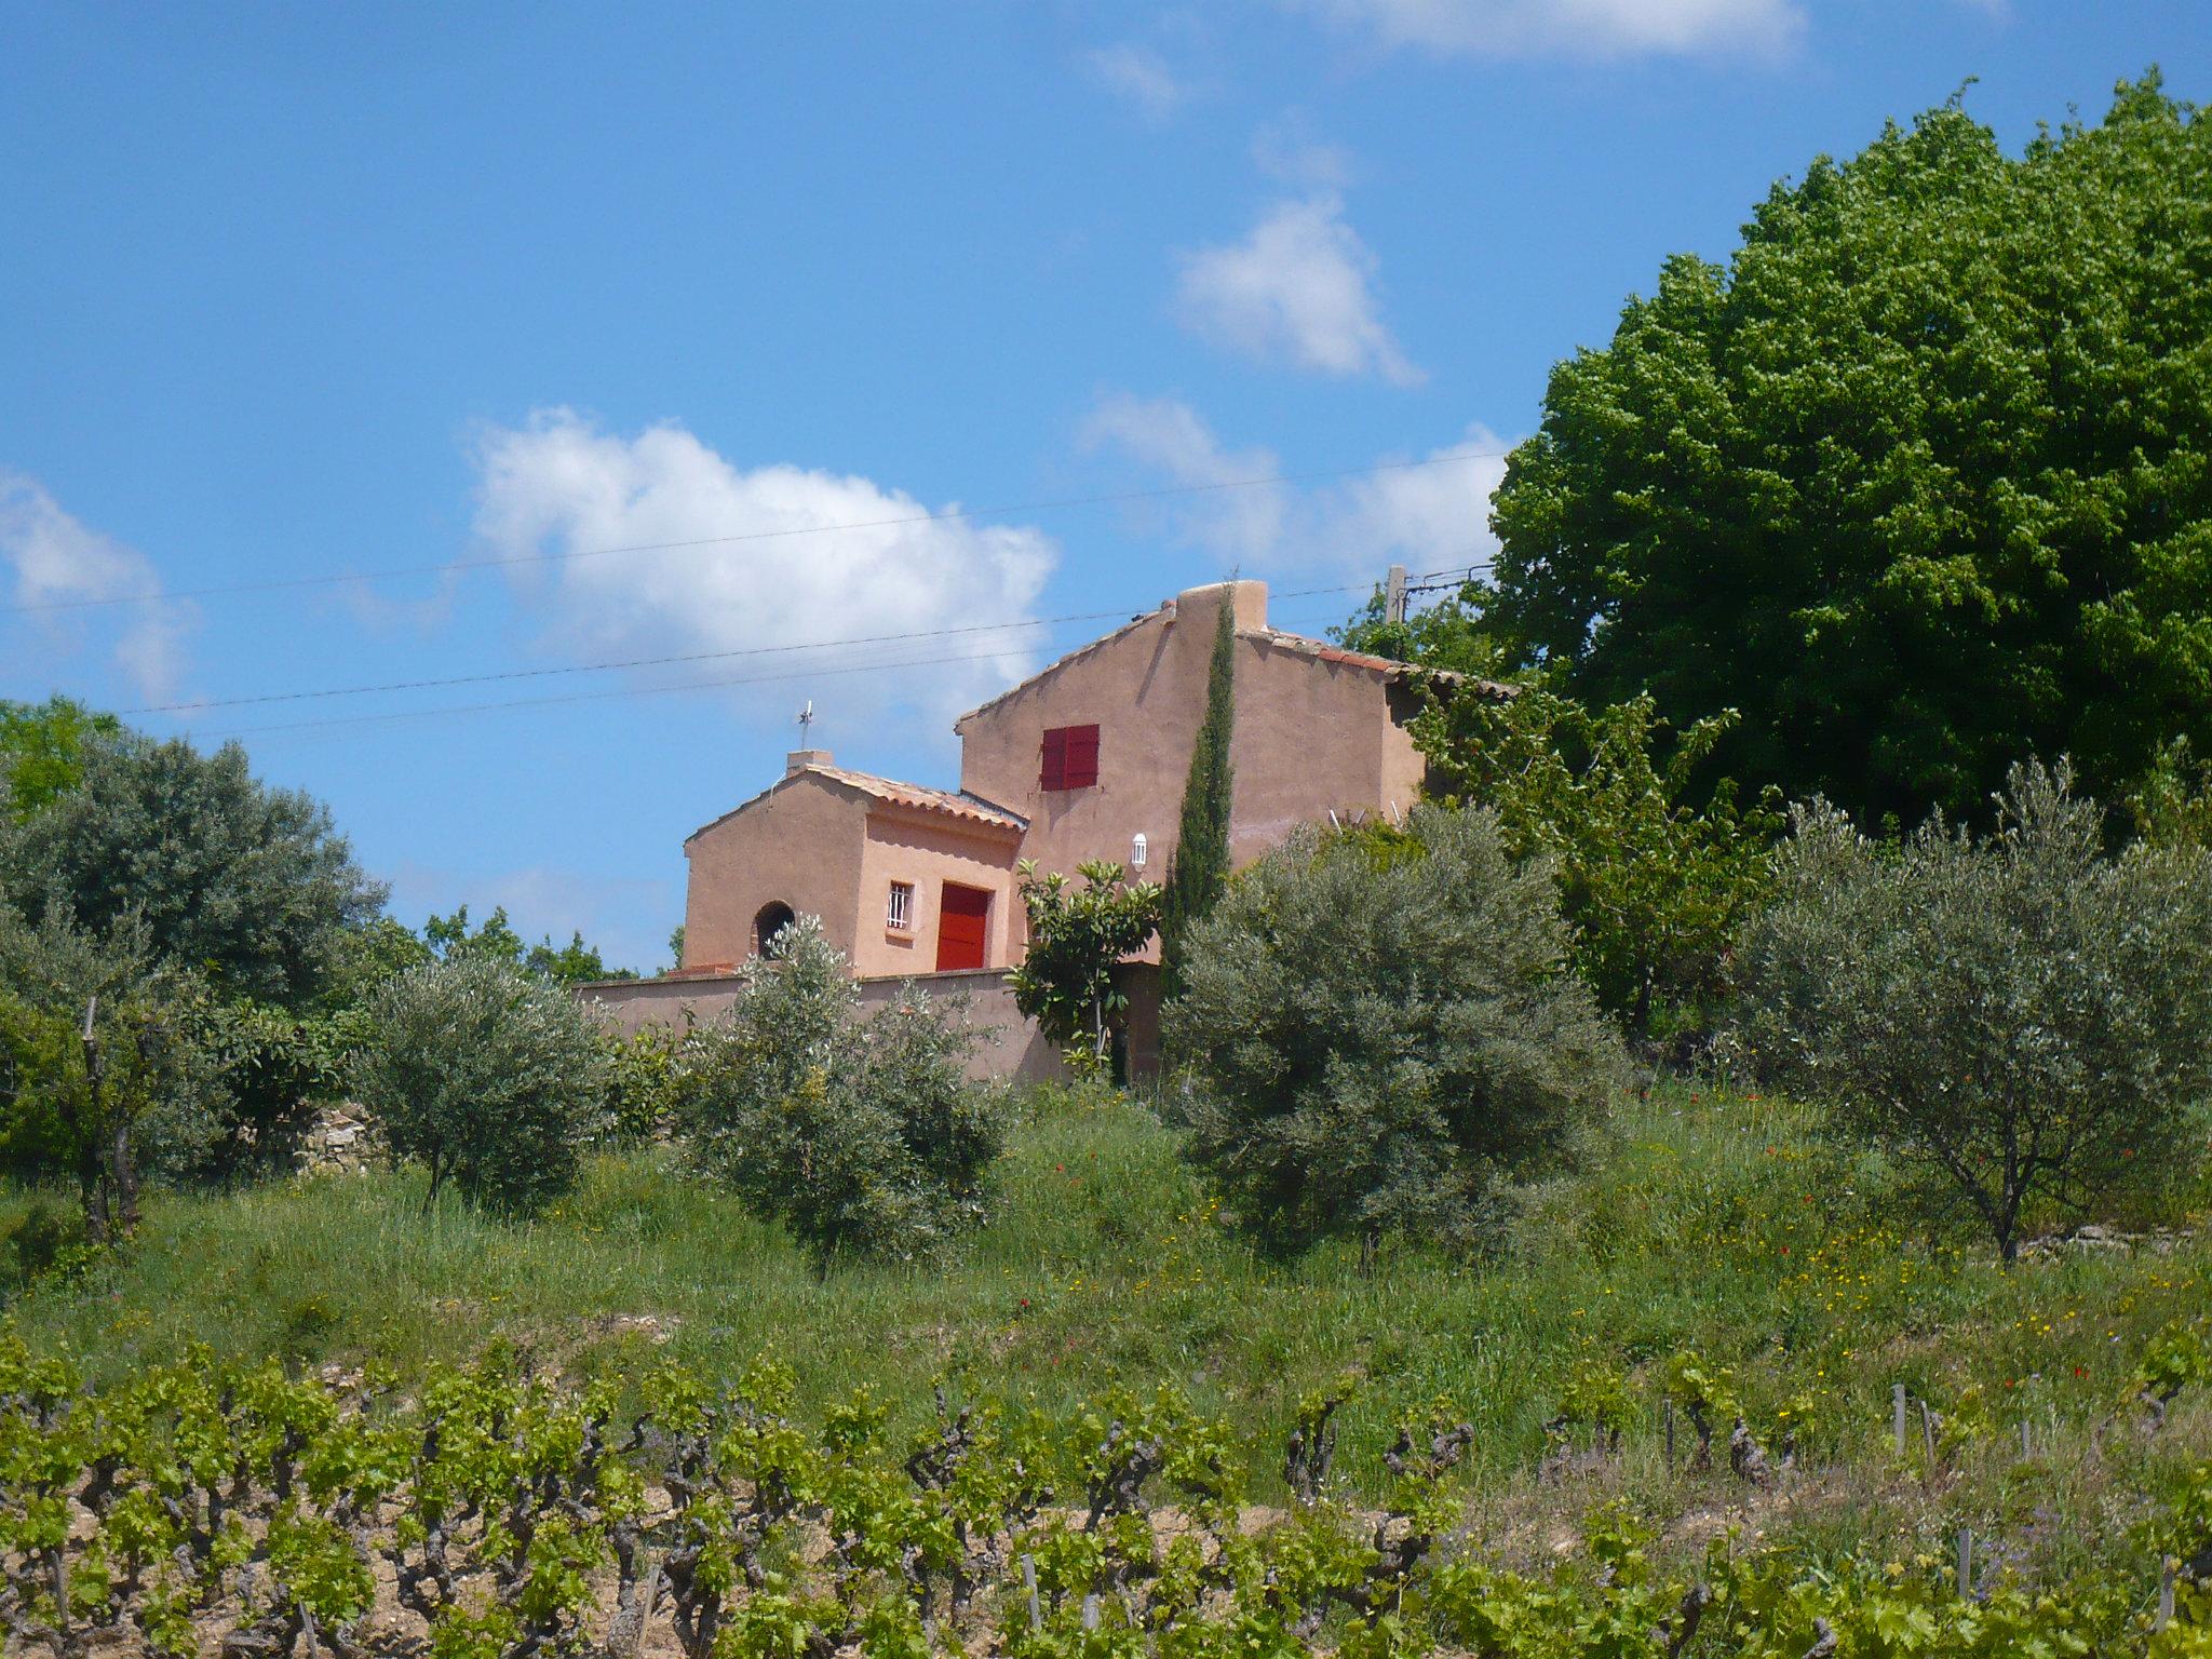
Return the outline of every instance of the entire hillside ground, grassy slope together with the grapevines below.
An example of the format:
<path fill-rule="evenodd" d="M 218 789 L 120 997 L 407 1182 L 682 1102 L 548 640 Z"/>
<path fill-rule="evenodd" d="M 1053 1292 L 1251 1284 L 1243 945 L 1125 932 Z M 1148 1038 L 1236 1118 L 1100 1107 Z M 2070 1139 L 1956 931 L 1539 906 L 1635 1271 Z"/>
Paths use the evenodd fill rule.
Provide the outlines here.
<path fill-rule="evenodd" d="M 2004 1272 L 1885 1181 L 1679 1086 L 1489 1263 L 1371 1276 L 1254 1254 L 1113 1097 L 1035 1102 L 931 1272 L 825 1274 L 650 1152 L 524 1228 L 392 1175 L 177 1194 L 15 1298 L 4 1615 L 241 1657 L 2199 1652 L 2203 1243 Z"/>

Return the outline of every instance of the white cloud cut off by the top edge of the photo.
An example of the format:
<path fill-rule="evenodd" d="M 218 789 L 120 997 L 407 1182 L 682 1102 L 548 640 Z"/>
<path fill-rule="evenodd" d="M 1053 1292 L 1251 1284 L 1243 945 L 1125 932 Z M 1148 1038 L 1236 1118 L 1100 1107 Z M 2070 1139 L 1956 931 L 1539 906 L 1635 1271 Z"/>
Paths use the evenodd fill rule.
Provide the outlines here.
<path fill-rule="evenodd" d="M 1305 0 L 1383 46 L 1438 58 L 1778 55 L 1798 0 Z"/>

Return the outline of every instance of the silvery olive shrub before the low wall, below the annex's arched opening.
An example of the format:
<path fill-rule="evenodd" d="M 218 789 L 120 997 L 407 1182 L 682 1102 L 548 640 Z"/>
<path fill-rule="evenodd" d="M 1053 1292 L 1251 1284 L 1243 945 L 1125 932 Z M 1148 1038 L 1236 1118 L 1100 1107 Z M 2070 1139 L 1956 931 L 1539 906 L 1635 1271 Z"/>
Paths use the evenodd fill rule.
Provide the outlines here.
<path fill-rule="evenodd" d="M 973 1035 L 911 987 L 874 1018 L 803 916 L 697 1033 L 684 1119 L 699 1164 L 825 1261 L 922 1256 L 982 1214 L 1004 1099 L 962 1077 Z"/>

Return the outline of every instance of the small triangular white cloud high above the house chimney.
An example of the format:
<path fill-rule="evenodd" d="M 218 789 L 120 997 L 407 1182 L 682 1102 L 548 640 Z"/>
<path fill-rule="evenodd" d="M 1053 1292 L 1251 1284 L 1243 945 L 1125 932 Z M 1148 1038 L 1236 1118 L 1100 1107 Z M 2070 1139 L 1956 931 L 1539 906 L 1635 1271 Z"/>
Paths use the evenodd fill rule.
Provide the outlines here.
<path fill-rule="evenodd" d="M 1374 274 L 1343 197 L 1318 190 L 1279 201 L 1243 241 L 1186 254 L 1177 310 L 1194 334 L 1254 358 L 1413 385 L 1422 374 L 1376 314 Z"/>

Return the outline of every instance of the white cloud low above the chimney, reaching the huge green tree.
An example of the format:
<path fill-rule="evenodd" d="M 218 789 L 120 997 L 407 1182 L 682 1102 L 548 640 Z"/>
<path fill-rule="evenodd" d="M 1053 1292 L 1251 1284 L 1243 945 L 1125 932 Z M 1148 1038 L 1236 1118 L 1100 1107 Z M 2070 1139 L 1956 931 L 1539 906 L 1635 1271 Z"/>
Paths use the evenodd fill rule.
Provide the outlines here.
<path fill-rule="evenodd" d="M 1144 511 L 1179 546 L 1210 553 L 1223 568 L 1259 573 L 1380 573 L 1391 564 L 1449 571 L 1498 551 L 1491 495 L 1509 445 L 1471 422 L 1449 445 L 1420 456 L 1383 456 L 1371 471 L 1312 487 L 1283 482 L 1267 449 L 1230 449 L 1179 398 L 1102 398 L 1084 440 L 1113 447 L 1172 484 L 1199 487 Z M 1232 480 L 1276 482 L 1228 489 Z"/>

